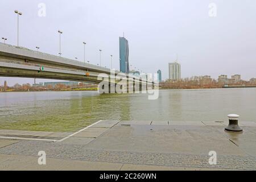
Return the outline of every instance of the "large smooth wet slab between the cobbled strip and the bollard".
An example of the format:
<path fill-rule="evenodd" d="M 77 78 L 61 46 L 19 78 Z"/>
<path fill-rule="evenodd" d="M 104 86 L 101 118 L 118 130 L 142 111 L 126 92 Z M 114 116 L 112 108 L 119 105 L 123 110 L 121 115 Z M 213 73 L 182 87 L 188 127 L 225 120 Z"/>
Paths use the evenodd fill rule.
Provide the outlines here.
<path fill-rule="evenodd" d="M 212 126 L 214 127 L 214 126 Z M 246 153 L 223 135 L 207 126 L 118 125 L 86 147 L 94 150 L 168 152 L 175 154 L 220 155 Z M 157 147 L 156 147 L 157 146 Z"/>

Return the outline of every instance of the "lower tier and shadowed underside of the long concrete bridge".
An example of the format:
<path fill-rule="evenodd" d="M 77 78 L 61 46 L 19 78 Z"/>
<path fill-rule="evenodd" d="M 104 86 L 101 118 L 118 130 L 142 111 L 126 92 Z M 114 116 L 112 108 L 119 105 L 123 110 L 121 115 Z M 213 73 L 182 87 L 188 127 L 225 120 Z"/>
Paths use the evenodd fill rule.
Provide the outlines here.
<path fill-rule="evenodd" d="M 9 67 L 7 67 L 7 65 Z M 147 84 L 141 81 L 130 80 L 129 82 L 129 80 L 126 80 L 127 82 L 121 85 L 118 82 L 118 80 L 111 81 L 112 79 L 108 79 L 108 77 L 107 79 L 102 77 L 102 80 L 104 80 L 102 81 L 102 80 L 98 80 L 98 76 L 86 76 L 79 72 L 74 72 L 72 74 L 72 71 L 67 71 L 67 73 L 65 73 L 65 70 L 58 70 L 53 68 L 51 68 L 52 69 L 52 72 L 51 72 L 51 70 L 49 70 L 50 68 L 48 68 L 48 70 L 47 68 L 45 69 L 46 71 L 40 71 L 39 67 L 37 67 L 36 65 L 32 66 L 31 64 L 17 65 L 17 64 L 0 62 L 0 76 L 3 76 L 3 77 L 44 78 L 44 79 L 53 79 L 53 80 L 89 82 L 92 84 L 100 84 L 98 86 L 99 88 L 105 90 L 104 93 L 113 93 L 113 88 L 115 89 L 117 85 L 119 88 L 122 88 L 123 90 L 125 90 L 125 92 L 130 92 L 130 91 L 135 92 L 135 90 L 142 91 L 142 90 L 148 89 Z M 106 82 L 106 80 L 108 81 Z M 104 89 L 104 85 L 105 86 L 108 85 L 109 89 L 107 90 Z"/>

